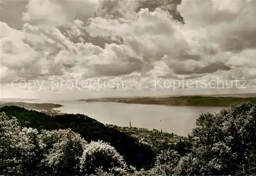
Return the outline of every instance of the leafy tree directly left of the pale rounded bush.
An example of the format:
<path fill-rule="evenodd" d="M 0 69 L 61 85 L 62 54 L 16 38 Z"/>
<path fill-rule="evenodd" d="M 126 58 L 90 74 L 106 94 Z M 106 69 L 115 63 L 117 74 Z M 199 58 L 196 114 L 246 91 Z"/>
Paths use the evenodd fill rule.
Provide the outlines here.
<path fill-rule="evenodd" d="M 42 161 L 48 167 L 50 174 L 79 174 L 80 157 L 87 142 L 70 129 L 42 131 L 39 135 L 45 159 Z"/>

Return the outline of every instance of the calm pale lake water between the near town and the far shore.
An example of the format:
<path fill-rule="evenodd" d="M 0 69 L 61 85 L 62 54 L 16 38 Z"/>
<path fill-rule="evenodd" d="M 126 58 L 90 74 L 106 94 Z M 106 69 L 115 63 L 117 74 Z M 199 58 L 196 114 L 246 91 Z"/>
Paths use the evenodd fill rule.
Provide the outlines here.
<path fill-rule="evenodd" d="M 35 101 L 37 103 L 42 100 Z M 102 123 L 129 127 L 157 129 L 163 132 L 186 136 L 195 127 L 196 119 L 202 113 L 219 112 L 220 107 L 164 106 L 122 104 L 111 102 L 75 102 L 72 100 L 44 101 L 63 105 L 56 108 L 63 113 L 88 115 Z"/>

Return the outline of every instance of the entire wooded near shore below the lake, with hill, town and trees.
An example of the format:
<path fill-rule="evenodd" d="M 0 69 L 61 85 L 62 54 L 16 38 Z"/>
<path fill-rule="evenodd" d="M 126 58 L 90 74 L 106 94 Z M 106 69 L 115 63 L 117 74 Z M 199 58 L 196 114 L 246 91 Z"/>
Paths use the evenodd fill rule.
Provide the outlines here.
<path fill-rule="evenodd" d="M 249 102 L 201 114 L 186 137 L 5 106 L 0 174 L 255 175 L 255 134 L 256 106 Z"/>

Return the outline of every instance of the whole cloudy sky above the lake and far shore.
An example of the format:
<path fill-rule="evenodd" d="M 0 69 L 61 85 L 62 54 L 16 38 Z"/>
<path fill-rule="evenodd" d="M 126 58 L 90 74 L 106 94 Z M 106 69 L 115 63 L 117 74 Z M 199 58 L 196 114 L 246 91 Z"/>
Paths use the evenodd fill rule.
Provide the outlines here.
<path fill-rule="evenodd" d="M 0 0 L 0 94 L 256 92 L 255 19 L 253 0 Z"/>

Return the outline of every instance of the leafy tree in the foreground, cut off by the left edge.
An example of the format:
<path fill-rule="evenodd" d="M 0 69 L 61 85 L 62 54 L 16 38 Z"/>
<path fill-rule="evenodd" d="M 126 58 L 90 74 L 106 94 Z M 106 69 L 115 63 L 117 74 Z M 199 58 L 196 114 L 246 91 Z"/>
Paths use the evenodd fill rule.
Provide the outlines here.
<path fill-rule="evenodd" d="M 0 173 L 40 174 L 37 130 L 22 128 L 15 117 L 0 113 Z"/>

